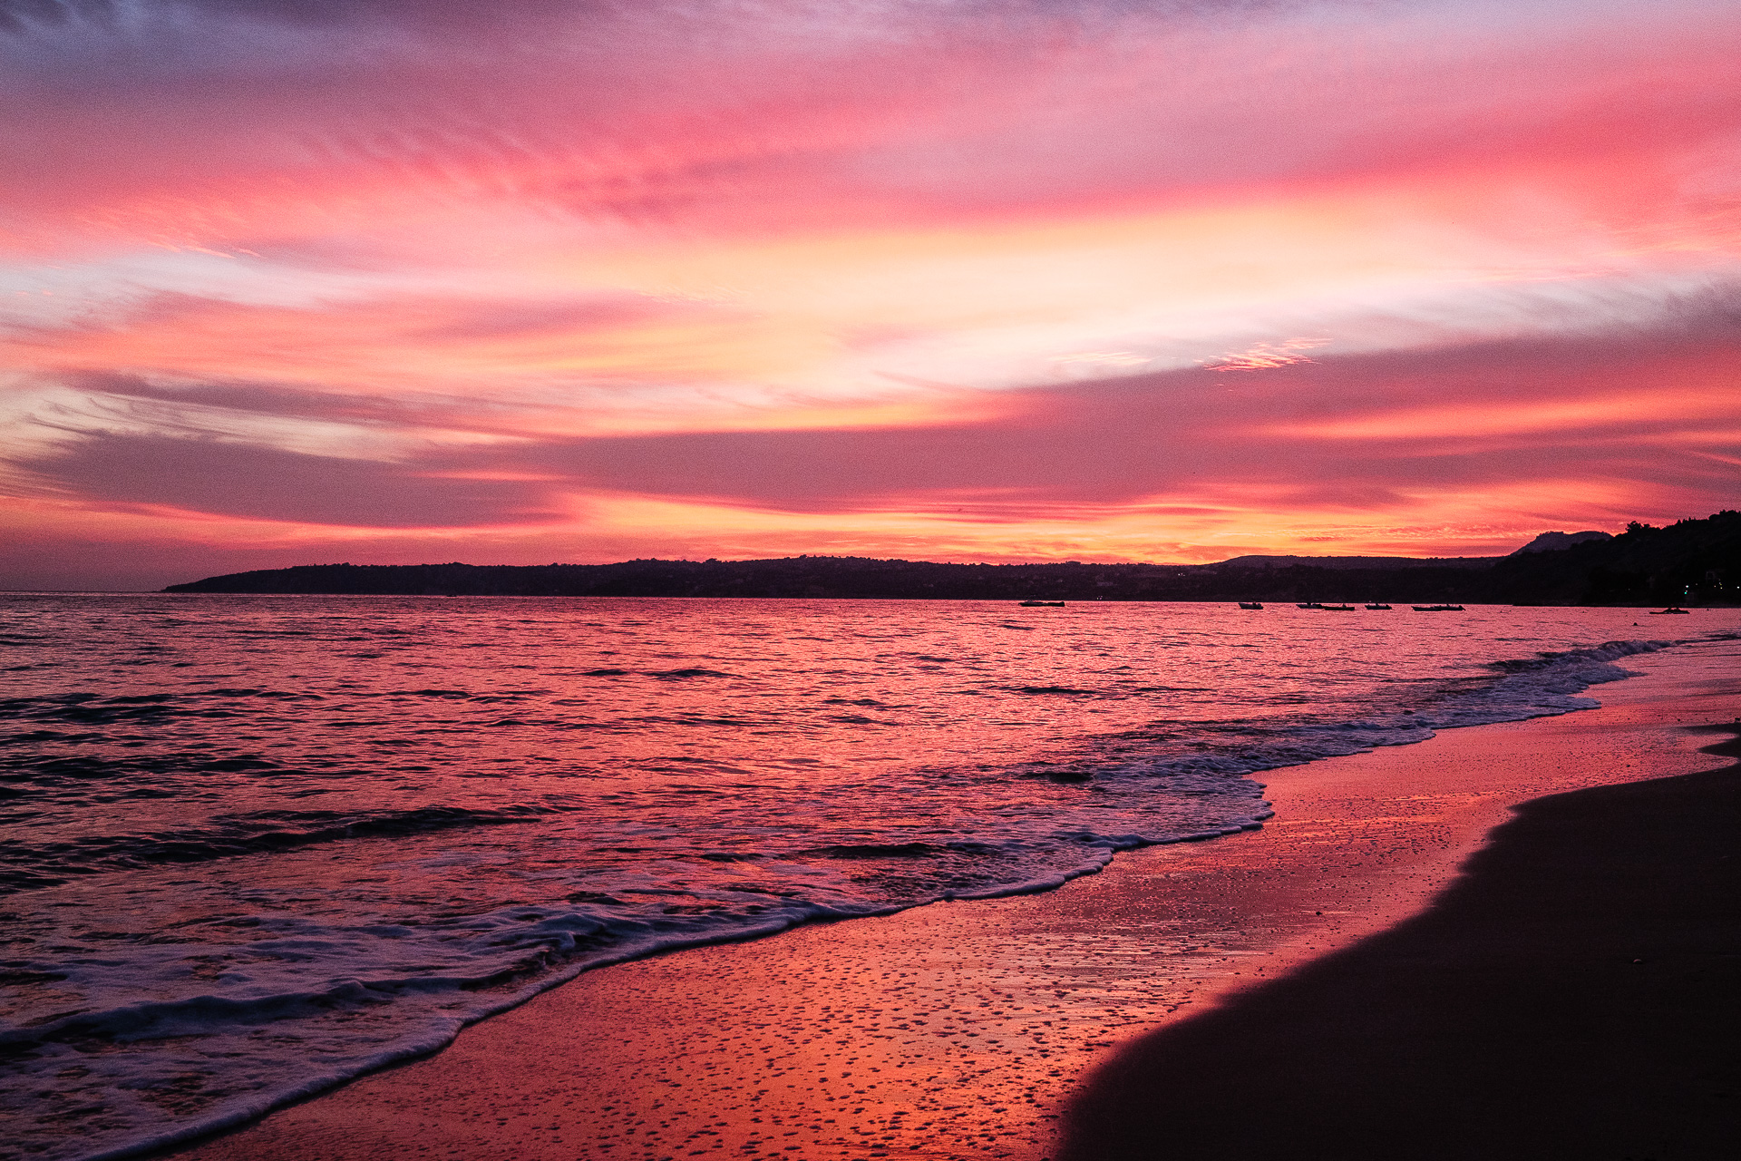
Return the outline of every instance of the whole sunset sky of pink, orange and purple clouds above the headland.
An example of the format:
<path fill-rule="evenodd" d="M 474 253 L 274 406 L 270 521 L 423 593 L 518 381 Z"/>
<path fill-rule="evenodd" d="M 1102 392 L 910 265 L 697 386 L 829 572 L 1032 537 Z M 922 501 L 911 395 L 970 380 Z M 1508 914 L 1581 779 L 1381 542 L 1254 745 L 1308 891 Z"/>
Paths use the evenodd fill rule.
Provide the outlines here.
<path fill-rule="evenodd" d="M 1741 503 L 1734 0 L 0 0 L 0 587 Z"/>

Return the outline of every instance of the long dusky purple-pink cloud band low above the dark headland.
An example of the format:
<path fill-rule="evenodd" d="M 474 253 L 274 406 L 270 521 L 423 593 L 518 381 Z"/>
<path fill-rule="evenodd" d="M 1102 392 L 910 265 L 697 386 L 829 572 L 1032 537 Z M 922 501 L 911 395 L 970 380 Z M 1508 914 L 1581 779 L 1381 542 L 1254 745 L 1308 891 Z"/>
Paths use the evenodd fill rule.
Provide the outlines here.
<path fill-rule="evenodd" d="M 1429 493 L 1569 479 L 1605 480 L 1640 505 L 1671 489 L 1692 507 L 1722 507 L 1734 487 L 1722 456 L 1741 456 L 1738 334 L 1738 313 L 1718 303 L 1670 329 L 1603 341 L 1031 388 L 1006 395 L 999 413 L 947 425 L 528 435 L 427 446 L 393 463 L 85 432 L 24 466 L 87 503 L 341 527 L 550 522 L 564 519 L 559 496 L 811 515 L 959 507 L 1008 522 L 1262 493 L 1278 512 L 1398 519 Z M 272 392 L 214 390 L 232 407 L 286 407 Z M 326 411 L 287 399 L 299 414 L 352 418 L 343 399 Z"/>

